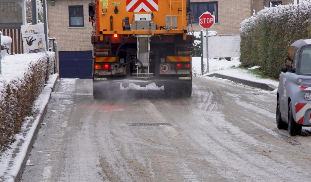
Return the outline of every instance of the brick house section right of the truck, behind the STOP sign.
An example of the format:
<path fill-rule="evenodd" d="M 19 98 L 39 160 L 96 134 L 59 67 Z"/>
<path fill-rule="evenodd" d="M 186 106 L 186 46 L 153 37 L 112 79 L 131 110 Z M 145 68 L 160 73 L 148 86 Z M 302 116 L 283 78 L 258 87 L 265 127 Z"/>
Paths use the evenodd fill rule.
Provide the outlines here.
<path fill-rule="evenodd" d="M 190 0 L 194 31 L 202 30 L 198 17 L 206 11 L 214 14 L 216 23 L 209 30 L 218 34 L 239 34 L 240 23 L 264 7 L 286 5 L 293 0 Z"/>

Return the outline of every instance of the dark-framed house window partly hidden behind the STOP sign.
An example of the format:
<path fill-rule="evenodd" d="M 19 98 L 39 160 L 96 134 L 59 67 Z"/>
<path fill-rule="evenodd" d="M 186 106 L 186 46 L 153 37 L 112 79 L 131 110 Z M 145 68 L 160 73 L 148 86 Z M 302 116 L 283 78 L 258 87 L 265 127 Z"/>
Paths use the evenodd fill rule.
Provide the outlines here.
<path fill-rule="evenodd" d="M 218 23 L 218 3 L 217 2 L 191 2 L 192 23 L 199 23 L 202 13 L 208 11 L 215 16 L 215 23 Z"/>

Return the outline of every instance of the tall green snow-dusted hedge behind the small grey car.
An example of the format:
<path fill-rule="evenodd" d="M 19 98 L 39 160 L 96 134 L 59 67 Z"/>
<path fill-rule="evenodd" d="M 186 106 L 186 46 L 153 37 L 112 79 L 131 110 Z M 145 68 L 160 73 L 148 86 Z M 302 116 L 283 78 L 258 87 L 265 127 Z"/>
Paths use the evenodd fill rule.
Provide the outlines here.
<path fill-rule="evenodd" d="M 261 66 L 278 77 L 291 43 L 311 37 L 311 3 L 276 6 L 242 22 L 241 57 L 245 67 Z"/>

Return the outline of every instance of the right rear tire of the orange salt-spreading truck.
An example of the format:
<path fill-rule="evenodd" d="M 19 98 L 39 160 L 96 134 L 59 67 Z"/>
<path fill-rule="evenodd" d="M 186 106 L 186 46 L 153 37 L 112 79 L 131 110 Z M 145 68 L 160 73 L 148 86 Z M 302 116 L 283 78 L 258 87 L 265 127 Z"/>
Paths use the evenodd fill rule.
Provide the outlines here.
<path fill-rule="evenodd" d="M 189 98 L 192 94 L 192 81 L 187 82 L 165 82 L 164 92 L 172 98 L 185 97 Z"/>

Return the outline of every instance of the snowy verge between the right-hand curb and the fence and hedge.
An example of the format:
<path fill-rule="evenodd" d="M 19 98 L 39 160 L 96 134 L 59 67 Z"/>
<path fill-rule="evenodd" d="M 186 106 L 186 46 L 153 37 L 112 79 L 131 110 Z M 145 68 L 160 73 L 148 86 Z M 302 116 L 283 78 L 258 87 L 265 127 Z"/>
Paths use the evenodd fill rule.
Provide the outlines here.
<path fill-rule="evenodd" d="M 227 76 L 240 78 L 240 79 L 244 79 L 244 80 L 249 80 L 249 81 L 254 81 L 254 82 L 259 82 L 259 83 L 272 84 L 276 87 L 279 85 L 279 82 L 276 80 L 263 79 L 263 78 L 259 77 L 258 75 L 252 74 L 248 70 L 244 70 L 244 69 L 240 69 L 240 68 L 232 68 L 232 69 L 214 71 L 214 72 L 207 73 L 203 76 L 211 75 L 213 73 L 219 73 L 222 75 L 227 75 Z"/>

